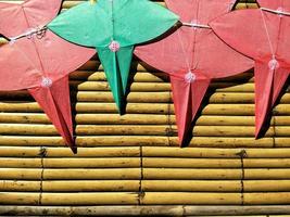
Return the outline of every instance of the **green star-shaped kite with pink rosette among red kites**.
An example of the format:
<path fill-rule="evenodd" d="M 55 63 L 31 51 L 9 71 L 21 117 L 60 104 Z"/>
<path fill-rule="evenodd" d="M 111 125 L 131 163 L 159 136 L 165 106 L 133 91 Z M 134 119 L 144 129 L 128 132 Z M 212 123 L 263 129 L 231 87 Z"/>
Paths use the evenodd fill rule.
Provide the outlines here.
<path fill-rule="evenodd" d="M 124 113 L 134 46 L 169 29 L 178 17 L 148 0 L 87 1 L 56 17 L 49 28 L 97 49 L 119 113 Z"/>

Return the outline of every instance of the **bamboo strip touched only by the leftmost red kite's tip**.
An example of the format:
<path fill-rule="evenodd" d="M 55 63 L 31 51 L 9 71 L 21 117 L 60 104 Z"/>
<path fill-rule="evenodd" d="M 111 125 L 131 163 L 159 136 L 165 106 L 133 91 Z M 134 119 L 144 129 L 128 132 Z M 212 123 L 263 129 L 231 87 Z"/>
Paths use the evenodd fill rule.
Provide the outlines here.
<path fill-rule="evenodd" d="M 188 157 L 188 158 L 240 158 L 240 153 L 245 151 L 247 158 L 290 158 L 290 149 L 225 149 L 225 148 L 166 148 L 143 146 L 143 157 Z M 73 154 L 67 148 L 47 146 L 2 146 L 1 157 L 138 157 L 139 146 L 112 146 L 112 148 L 78 148 L 78 153 Z M 181 161 L 181 159 L 180 159 Z"/>

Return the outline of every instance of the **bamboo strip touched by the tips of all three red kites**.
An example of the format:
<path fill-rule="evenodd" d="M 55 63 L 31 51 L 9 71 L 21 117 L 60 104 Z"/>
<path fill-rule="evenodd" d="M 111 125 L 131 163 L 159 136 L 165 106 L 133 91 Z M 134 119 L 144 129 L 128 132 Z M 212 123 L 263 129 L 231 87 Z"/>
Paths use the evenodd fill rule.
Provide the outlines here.
<path fill-rule="evenodd" d="M 18 137 L 1 136 L 1 145 L 29 145 L 29 146 L 65 146 L 61 137 Z M 179 146 L 176 137 L 153 137 L 153 136 L 99 136 L 77 137 L 76 144 L 79 148 L 100 146 Z M 0 145 L 0 146 L 1 146 Z M 194 137 L 190 145 L 192 148 L 273 148 L 273 138 L 225 138 L 225 137 Z M 275 138 L 276 148 L 290 148 L 289 138 Z"/>

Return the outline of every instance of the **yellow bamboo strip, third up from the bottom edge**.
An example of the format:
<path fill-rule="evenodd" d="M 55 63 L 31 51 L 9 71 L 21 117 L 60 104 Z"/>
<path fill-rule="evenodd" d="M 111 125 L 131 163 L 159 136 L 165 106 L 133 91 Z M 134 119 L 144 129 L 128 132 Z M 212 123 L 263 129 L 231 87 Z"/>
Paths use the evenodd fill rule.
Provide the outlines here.
<path fill-rule="evenodd" d="M 277 184 L 278 183 L 278 184 Z M 66 180 L 66 181 L 12 181 L 1 180 L 2 192 L 129 192 L 139 191 L 139 180 Z M 143 180 L 144 192 L 240 192 L 239 180 Z M 244 180 L 244 192 L 289 192 L 289 180 Z"/>

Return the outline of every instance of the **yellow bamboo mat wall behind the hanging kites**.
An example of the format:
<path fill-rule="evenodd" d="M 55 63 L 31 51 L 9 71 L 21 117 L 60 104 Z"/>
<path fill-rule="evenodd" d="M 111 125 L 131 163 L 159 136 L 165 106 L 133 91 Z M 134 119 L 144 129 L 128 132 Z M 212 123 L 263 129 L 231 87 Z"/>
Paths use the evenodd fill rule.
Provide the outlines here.
<path fill-rule="evenodd" d="M 253 73 L 216 80 L 179 149 L 167 77 L 131 75 L 124 116 L 97 58 L 71 75 L 77 155 L 26 91 L 0 92 L 0 215 L 290 214 L 289 92 L 254 140 Z"/>

